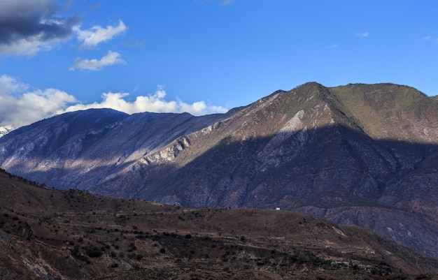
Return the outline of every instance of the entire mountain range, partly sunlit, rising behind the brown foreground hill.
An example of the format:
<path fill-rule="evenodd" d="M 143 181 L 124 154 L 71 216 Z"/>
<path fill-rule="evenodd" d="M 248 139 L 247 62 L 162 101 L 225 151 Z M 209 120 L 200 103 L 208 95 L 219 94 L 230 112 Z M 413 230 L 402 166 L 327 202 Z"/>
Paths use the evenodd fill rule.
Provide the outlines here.
<path fill-rule="evenodd" d="M 204 117 L 73 112 L 0 138 L 1 168 L 48 186 L 185 207 L 281 207 L 435 258 L 437 158 L 437 98 L 396 84 L 312 82 Z"/>

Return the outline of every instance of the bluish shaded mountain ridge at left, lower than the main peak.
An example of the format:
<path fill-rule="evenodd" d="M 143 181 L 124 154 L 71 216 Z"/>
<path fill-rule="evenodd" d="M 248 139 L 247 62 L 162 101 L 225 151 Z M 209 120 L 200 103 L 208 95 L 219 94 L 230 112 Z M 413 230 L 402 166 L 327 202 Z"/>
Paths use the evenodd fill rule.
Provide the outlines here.
<path fill-rule="evenodd" d="M 90 189 L 144 154 L 226 116 L 127 115 L 111 109 L 66 113 L 3 136 L 1 167 L 59 189 Z"/>

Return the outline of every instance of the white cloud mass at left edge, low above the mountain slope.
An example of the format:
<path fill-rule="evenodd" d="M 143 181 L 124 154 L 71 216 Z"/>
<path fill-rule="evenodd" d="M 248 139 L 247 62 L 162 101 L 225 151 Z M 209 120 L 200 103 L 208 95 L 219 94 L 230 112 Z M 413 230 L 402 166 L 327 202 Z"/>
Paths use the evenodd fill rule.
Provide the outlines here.
<path fill-rule="evenodd" d="M 59 89 L 27 91 L 29 86 L 8 75 L 0 77 L 0 126 L 17 128 L 59 114 L 76 98 Z"/>

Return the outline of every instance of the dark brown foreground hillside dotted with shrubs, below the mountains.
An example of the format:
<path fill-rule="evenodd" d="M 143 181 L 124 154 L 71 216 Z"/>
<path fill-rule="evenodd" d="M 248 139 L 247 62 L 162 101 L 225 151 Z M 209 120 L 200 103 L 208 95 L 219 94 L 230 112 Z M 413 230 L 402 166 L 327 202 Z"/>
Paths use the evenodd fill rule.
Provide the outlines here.
<path fill-rule="evenodd" d="M 0 170 L 1 279 L 438 279 L 356 226 L 59 191 Z M 435 275 L 435 276 L 434 276 Z"/>

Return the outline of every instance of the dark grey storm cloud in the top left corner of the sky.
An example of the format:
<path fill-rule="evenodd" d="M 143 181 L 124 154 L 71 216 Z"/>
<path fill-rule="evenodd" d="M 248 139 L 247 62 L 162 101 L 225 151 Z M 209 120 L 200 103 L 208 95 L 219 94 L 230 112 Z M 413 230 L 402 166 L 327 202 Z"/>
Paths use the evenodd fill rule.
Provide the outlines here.
<path fill-rule="evenodd" d="M 38 44 L 68 38 L 78 17 L 57 17 L 55 0 L 0 0 L 0 45 Z M 20 49 L 20 47 L 18 47 Z M 38 49 L 38 48 L 37 48 Z"/>

